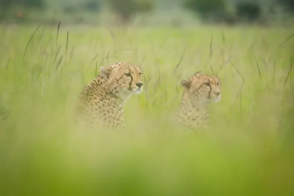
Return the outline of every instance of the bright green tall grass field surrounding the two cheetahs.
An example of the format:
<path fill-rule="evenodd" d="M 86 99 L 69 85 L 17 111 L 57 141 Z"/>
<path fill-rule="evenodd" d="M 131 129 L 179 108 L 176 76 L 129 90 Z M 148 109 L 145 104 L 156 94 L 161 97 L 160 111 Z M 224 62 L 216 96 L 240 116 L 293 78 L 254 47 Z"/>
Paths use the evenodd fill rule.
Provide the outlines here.
<path fill-rule="evenodd" d="M 293 29 L 0 29 L 1 196 L 294 194 Z M 127 131 L 77 130 L 83 85 L 119 61 L 145 77 Z M 174 130 L 180 81 L 197 71 L 222 82 L 211 128 Z"/>

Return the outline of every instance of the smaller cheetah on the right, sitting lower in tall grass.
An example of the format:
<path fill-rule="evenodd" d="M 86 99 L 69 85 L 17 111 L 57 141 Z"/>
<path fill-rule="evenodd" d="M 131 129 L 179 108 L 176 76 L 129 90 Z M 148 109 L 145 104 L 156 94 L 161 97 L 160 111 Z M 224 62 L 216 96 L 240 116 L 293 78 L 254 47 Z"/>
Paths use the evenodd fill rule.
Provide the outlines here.
<path fill-rule="evenodd" d="M 189 130 L 208 128 L 208 105 L 221 100 L 221 81 L 213 75 L 197 72 L 190 80 L 183 79 L 184 93 L 172 117 L 174 123 Z"/>

